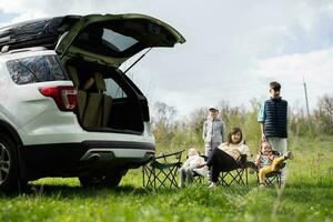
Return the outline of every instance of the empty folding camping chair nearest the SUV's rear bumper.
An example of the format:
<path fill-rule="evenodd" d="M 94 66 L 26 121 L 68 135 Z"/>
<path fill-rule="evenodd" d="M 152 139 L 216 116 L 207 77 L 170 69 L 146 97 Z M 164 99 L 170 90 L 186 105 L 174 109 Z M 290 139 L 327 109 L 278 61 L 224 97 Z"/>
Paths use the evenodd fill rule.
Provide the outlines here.
<path fill-rule="evenodd" d="M 143 186 L 144 188 L 178 188 L 175 180 L 178 170 L 181 168 L 181 157 L 184 150 L 162 154 L 153 158 L 151 162 L 142 167 Z"/>

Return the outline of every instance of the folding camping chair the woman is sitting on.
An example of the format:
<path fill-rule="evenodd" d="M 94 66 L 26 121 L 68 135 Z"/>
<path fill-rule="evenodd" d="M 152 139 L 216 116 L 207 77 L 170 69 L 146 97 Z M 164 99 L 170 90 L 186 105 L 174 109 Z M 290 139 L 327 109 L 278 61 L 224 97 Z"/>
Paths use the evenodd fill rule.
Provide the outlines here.
<path fill-rule="evenodd" d="M 246 154 L 241 154 L 234 165 L 220 173 L 218 185 L 230 186 L 232 183 L 248 185 Z"/>

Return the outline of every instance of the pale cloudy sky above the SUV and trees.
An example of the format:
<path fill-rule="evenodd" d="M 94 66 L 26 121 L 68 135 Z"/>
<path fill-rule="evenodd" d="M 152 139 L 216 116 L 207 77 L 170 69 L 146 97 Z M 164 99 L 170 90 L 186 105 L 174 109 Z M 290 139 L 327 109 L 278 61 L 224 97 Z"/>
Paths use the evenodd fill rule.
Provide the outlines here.
<path fill-rule="evenodd" d="M 251 108 L 269 98 L 270 81 L 293 109 L 305 108 L 303 82 L 311 110 L 333 94 L 330 0 L 0 0 L 0 26 L 89 13 L 144 13 L 182 33 L 185 43 L 151 50 L 128 73 L 151 105 L 178 117 L 221 101 Z"/>

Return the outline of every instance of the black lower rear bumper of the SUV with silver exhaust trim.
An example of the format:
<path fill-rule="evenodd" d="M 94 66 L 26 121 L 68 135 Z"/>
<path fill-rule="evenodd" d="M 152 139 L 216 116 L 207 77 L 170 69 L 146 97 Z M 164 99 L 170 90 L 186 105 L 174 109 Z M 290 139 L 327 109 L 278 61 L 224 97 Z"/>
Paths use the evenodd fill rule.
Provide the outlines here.
<path fill-rule="evenodd" d="M 28 145 L 20 152 L 22 178 L 80 176 L 114 168 L 132 169 L 149 162 L 154 152 L 154 143 L 127 141 Z"/>

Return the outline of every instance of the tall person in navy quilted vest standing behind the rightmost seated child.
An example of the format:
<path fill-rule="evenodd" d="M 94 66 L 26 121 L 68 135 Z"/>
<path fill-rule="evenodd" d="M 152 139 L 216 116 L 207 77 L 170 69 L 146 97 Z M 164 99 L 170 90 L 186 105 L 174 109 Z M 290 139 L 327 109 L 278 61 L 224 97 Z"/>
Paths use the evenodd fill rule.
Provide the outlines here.
<path fill-rule="evenodd" d="M 281 84 L 270 83 L 271 99 L 266 100 L 258 113 L 262 141 L 268 141 L 273 150 L 286 153 L 287 102 L 280 97 Z M 284 185 L 286 168 L 282 170 L 281 183 Z"/>

